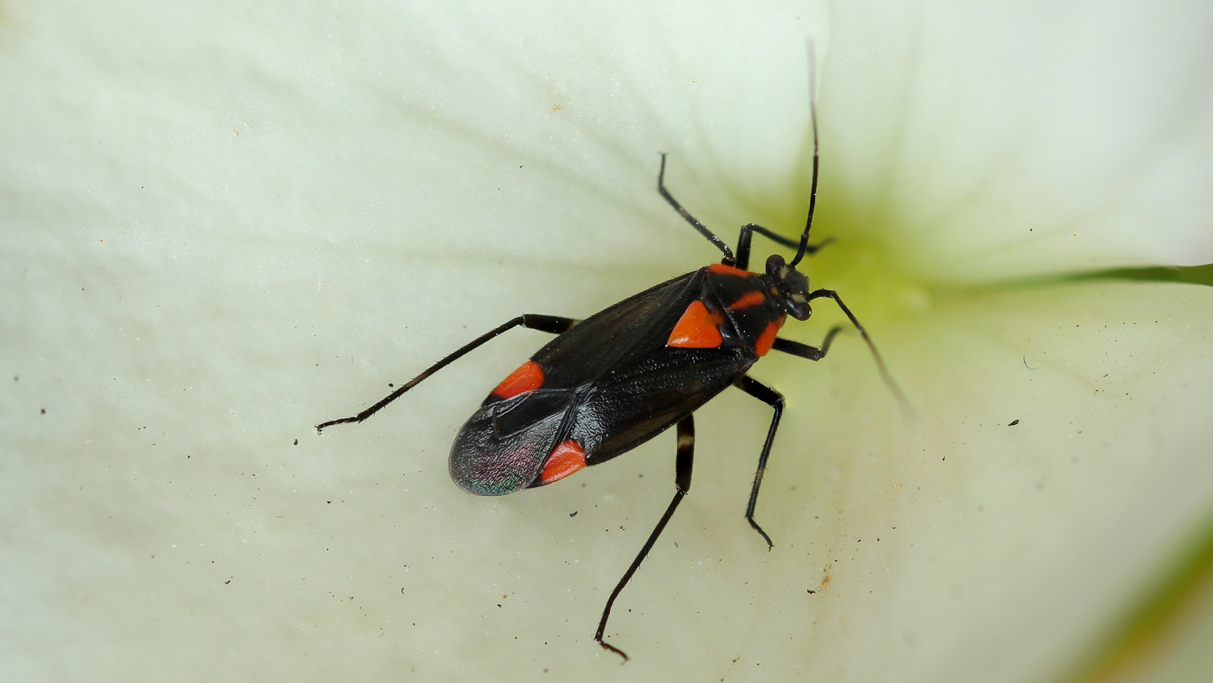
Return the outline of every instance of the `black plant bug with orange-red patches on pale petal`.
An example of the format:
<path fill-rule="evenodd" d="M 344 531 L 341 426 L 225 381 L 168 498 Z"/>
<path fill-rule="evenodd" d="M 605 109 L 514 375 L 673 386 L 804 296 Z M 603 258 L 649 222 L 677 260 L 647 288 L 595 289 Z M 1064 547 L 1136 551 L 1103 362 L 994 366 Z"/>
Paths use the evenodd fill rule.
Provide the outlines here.
<path fill-rule="evenodd" d="M 882 376 L 896 392 L 876 346 L 842 298 L 833 290 L 810 290 L 808 278 L 796 269 L 807 254 L 821 246 L 809 244 L 818 190 L 815 114 L 811 119 L 813 181 L 808 218 L 799 240 L 750 223 L 741 227 L 734 254 L 666 189 L 666 155 L 661 154 L 657 192 L 721 250 L 724 257 L 719 263 L 649 288 L 585 320 L 533 313 L 519 315 L 472 340 L 358 415 L 323 422 L 317 431 L 342 422 L 361 422 L 506 330 L 523 326 L 558 335 L 502 380 L 459 431 L 451 446 L 450 473 L 468 493 L 512 494 L 605 462 L 677 425 L 674 497 L 611 591 L 594 633 L 598 644 L 626 661 L 623 650 L 604 639 L 606 619 L 623 586 L 690 490 L 695 449 L 691 414 L 728 387 L 738 387 L 774 410 L 746 506 L 750 525 L 767 541 L 768 550 L 773 547 L 770 536 L 754 520 L 754 506 L 784 414 L 784 397 L 747 372 L 771 349 L 820 360 L 841 330 L 839 326 L 831 329 L 820 347 L 786 340 L 776 335 L 788 315 L 805 320 L 813 313 L 810 301 L 833 300 L 867 342 Z M 747 271 L 753 233 L 796 249 L 796 256 L 785 262 L 776 254 L 767 258 L 764 272 Z M 898 395 L 900 398 L 899 392 Z"/>

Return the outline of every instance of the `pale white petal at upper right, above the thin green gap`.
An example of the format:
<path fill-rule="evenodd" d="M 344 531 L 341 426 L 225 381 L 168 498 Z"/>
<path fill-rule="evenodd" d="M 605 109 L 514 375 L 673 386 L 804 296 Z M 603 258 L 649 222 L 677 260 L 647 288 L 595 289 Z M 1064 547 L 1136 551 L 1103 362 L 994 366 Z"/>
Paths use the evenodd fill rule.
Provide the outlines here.
<path fill-rule="evenodd" d="M 1213 261 L 1209 5 L 845 2 L 833 30 L 822 209 L 915 277 Z"/>

